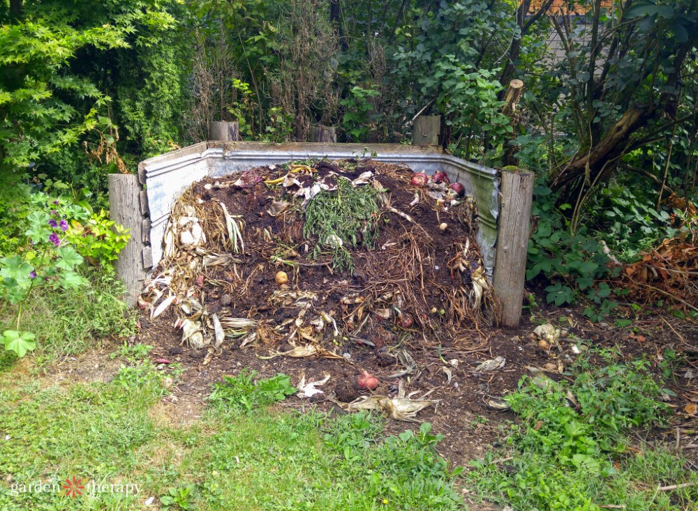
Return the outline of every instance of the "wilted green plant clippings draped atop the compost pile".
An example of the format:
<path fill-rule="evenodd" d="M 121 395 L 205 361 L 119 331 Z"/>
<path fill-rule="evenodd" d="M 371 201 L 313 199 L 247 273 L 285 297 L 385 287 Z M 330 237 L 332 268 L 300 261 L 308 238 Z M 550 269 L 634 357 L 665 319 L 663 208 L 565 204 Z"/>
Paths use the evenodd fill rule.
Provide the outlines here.
<path fill-rule="evenodd" d="M 332 268 L 354 272 L 354 259 L 348 247 L 373 247 L 378 236 L 378 190 L 367 185 L 353 188 L 340 178 L 337 189 L 315 195 L 306 208 L 303 236 L 317 236 L 311 253 L 317 259 L 332 254 Z"/>

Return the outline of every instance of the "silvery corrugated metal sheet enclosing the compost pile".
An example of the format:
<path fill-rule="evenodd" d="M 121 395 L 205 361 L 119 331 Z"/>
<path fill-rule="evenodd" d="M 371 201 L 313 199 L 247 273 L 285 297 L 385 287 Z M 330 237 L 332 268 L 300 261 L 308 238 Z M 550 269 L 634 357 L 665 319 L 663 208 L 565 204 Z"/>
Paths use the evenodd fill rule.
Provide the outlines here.
<path fill-rule="evenodd" d="M 141 162 L 139 174 L 146 187 L 150 211 L 152 266 L 163 255 L 163 236 L 174 201 L 191 183 L 206 176 L 226 176 L 260 165 L 310 158 L 371 158 L 408 165 L 429 173 L 440 169 L 452 182 L 463 183 L 474 195 L 480 215 L 477 242 L 491 275 L 497 238 L 499 185 L 495 169 L 446 155 L 439 148 L 400 144 L 274 144 L 264 142 L 207 142 Z"/>

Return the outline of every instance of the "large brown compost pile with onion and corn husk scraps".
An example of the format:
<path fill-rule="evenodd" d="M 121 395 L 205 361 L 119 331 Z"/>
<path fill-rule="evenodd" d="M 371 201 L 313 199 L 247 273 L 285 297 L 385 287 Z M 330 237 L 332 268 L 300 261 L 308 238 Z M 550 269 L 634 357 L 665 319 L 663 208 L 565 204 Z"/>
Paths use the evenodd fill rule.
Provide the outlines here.
<path fill-rule="evenodd" d="M 139 305 L 210 353 L 436 343 L 489 316 L 476 231 L 475 199 L 441 172 L 320 160 L 207 178 L 174 204 Z"/>

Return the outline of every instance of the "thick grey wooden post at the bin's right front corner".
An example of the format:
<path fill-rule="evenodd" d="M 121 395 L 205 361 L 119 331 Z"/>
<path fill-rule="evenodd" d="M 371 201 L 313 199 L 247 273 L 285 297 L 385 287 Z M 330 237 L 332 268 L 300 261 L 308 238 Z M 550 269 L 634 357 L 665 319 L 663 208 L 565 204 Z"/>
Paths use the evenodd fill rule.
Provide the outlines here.
<path fill-rule="evenodd" d="M 505 328 L 517 328 L 526 282 L 526 255 L 530 233 L 530 206 L 533 203 L 533 172 L 502 171 L 494 260 L 494 293 L 499 306 L 497 321 Z"/>

